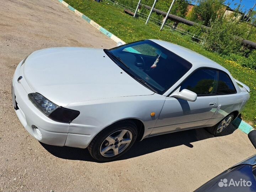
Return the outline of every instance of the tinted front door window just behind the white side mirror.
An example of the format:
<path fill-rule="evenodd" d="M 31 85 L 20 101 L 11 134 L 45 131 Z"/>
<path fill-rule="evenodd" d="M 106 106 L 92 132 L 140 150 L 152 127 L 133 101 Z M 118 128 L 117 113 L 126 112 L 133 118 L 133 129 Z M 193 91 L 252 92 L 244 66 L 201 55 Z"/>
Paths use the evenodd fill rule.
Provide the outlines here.
<path fill-rule="evenodd" d="M 186 79 L 181 89 L 188 89 L 197 94 L 197 96 L 206 96 L 216 94 L 217 74 L 213 69 L 198 69 L 188 79 Z"/>

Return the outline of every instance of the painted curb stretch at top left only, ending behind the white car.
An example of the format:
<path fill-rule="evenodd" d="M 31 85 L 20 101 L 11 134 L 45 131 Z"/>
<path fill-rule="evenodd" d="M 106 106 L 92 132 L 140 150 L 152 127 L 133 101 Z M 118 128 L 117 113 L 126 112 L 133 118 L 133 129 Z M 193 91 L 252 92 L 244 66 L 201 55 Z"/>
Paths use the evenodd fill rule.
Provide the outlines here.
<path fill-rule="evenodd" d="M 97 28 L 97 30 L 99 30 L 101 33 L 105 34 L 107 37 L 111 38 L 114 42 L 118 43 L 118 42 L 122 42 L 123 44 L 125 44 L 124 41 L 122 41 L 121 39 L 119 39 L 117 36 L 115 36 L 114 34 L 112 34 L 111 32 L 107 31 L 105 28 L 101 27 L 100 25 L 98 25 L 96 22 L 94 22 L 93 20 L 91 20 L 89 17 L 87 17 L 86 15 L 82 14 L 81 12 L 79 12 L 78 10 L 76 10 L 75 8 L 71 7 L 69 4 L 67 4 L 65 1 L 63 0 L 58 0 L 59 2 L 61 2 L 63 5 L 65 5 L 66 7 L 68 7 L 71 11 L 75 12 L 75 14 L 79 15 L 80 17 L 82 17 L 82 19 L 84 19 L 86 22 L 90 23 L 92 26 L 94 26 L 95 28 Z"/>

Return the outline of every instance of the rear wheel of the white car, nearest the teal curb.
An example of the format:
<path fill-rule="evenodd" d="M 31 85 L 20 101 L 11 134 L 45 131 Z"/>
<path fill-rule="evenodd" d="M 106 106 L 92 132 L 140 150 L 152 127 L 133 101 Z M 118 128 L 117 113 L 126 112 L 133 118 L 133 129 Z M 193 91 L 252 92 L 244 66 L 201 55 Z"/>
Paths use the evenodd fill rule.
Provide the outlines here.
<path fill-rule="evenodd" d="M 217 123 L 215 126 L 213 127 L 208 127 L 206 128 L 206 130 L 212 134 L 212 135 L 219 135 L 221 133 L 224 132 L 224 130 L 226 130 L 226 128 L 228 128 L 228 126 L 230 125 L 230 123 L 233 121 L 234 119 L 234 114 L 231 113 L 228 116 L 224 117 L 219 123 Z M 226 122 L 226 124 L 225 124 Z M 223 124 L 224 123 L 224 124 Z"/>

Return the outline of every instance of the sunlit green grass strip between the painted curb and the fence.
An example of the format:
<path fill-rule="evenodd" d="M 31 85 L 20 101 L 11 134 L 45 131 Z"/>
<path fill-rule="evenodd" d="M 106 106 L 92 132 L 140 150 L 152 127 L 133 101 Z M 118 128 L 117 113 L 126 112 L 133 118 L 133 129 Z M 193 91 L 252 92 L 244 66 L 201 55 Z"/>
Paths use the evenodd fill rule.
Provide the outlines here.
<path fill-rule="evenodd" d="M 214 52 L 209 52 L 187 38 L 182 38 L 166 30 L 160 32 L 160 27 L 150 23 L 145 25 L 145 21 L 124 14 L 122 9 L 108 5 L 105 2 L 97 3 L 94 0 L 65 1 L 126 43 L 142 39 L 161 39 L 194 50 L 223 65 L 235 79 L 244 82 L 250 87 L 251 98 L 242 112 L 242 118 L 247 122 L 256 124 L 256 73 L 254 70 L 249 70 L 234 62 L 229 62 L 228 58 Z"/>

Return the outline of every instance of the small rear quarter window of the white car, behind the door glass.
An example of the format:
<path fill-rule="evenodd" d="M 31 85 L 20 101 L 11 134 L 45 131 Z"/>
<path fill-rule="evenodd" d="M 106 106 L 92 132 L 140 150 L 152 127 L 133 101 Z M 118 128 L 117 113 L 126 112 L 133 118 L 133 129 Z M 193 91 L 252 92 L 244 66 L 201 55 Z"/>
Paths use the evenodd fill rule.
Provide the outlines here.
<path fill-rule="evenodd" d="M 235 87 L 229 76 L 219 71 L 219 82 L 217 94 L 233 94 L 236 93 Z"/>

